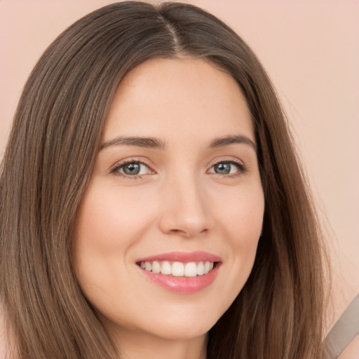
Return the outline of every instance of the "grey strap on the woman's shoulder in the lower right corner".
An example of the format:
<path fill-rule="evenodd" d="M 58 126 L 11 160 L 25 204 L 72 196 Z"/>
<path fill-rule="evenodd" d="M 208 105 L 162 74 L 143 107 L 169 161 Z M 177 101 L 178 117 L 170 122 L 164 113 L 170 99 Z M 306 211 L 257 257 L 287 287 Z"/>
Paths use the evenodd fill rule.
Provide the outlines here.
<path fill-rule="evenodd" d="M 359 294 L 348 305 L 325 338 L 327 359 L 338 358 L 346 346 L 359 334 Z"/>

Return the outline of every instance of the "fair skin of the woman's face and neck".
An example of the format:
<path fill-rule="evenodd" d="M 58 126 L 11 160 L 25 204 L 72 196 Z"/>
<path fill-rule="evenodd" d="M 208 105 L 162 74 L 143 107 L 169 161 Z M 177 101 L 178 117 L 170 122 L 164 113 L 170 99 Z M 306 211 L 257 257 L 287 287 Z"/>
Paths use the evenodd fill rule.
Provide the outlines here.
<path fill-rule="evenodd" d="M 76 219 L 74 263 L 125 358 L 205 358 L 206 332 L 250 275 L 264 213 L 256 152 L 248 143 L 210 147 L 233 135 L 255 144 L 248 106 L 231 76 L 205 60 L 148 60 L 118 87 L 107 145 Z M 114 144 L 118 136 L 155 137 L 165 148 Z M 123 161 L 146 165 L 140 176 L 126 175 Z M 136 264 L 197 250 L 222 265 L 210 286 L 192 294 L 151 282 Z"/>

